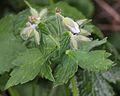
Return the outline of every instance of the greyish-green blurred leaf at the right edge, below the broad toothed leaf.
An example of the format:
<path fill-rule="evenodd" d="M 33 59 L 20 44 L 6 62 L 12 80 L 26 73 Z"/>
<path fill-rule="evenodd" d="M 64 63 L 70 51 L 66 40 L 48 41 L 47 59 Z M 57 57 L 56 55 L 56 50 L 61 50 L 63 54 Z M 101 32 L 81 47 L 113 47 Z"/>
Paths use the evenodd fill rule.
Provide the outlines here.
<path fill-rule="evenodd" d="M 113 67 L 102 73 L 102 76 L 109 82 L 117 83 L 117 81 L 120 81 L 120 67 Z"/>

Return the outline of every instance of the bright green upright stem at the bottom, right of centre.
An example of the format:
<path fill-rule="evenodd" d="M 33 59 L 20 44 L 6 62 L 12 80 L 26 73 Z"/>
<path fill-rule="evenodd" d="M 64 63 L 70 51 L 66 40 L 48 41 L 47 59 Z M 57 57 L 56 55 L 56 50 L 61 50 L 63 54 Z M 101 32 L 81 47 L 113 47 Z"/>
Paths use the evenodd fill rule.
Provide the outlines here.
<path fill-rule="evenodd" d="M 71 79 L 73 96 L 79 96 L 79 91 L 77 87 L 77 81 L 75 76 Z"/>

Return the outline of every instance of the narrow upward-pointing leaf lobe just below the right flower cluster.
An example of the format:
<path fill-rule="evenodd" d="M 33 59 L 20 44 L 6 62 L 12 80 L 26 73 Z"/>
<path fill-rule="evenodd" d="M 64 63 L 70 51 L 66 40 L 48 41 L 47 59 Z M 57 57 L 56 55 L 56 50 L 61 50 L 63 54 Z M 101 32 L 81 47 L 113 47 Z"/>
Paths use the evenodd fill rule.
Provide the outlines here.
<path fill-rule="evenodd" d="M 100 46 L 106 42 L 107 42 L 107 38 L 104 38 L 103 40 L 100 40 L 100 41 L 97 39 L 90 42 L 81 42 L 80 49 L 83 51 L 90 51 L 92 48 Z"/>

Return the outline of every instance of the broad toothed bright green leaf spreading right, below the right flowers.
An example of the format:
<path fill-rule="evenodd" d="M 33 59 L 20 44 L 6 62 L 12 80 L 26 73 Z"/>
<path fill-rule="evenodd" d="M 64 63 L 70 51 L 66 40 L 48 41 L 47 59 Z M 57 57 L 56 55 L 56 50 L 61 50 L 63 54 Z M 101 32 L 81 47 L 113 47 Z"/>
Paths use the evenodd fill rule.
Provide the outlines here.
<path fill-rule="evenodd" d="M 110 54 L 103 50 L 96 51 L 81 51 L 81 50 L 68 50 L 68 56 L 78 63 L 78 65 L 89 71 L 107 70 L 112 66 L 112 61 L 107 59 Z"/>

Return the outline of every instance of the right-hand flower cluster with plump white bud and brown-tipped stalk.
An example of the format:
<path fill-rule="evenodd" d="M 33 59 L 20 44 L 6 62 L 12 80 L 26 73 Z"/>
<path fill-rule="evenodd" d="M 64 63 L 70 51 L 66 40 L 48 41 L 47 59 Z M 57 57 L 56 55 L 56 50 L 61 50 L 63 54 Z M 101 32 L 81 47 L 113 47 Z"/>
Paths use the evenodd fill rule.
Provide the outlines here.
<path fill-rule="evenodd" d="M 70 31 L 71 46 L 73 46 L 75 49 L 78 48 L 77 46 L 78 41 L 91 41 L 91 39 L 87 37 L 91 34 L 86 30 L 80 28 L 80 26 L 86 21 L 86 19 L 78 20 L 75 22 L 73 19 L 69 17 L 62 16 L 61 10 L 59 10 L 58 8 L 56 9 L 56 15 L 62 18 L 64 26 Z"/>

